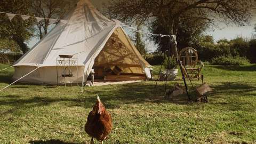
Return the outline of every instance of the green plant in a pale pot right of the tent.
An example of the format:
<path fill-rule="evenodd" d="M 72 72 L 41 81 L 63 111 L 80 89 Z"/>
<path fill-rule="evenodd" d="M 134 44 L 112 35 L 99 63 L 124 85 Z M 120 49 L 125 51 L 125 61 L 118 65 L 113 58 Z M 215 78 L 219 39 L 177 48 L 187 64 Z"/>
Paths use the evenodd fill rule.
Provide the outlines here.
<path fill-rule="evenodd" d="M 171 57 L 166 57 L 164 59 L 164 68 L 166 69 L 166 75 L 168 76 L 167 80 L 172 81 L 175 79 L 175 77 L 178 75 L 178 69 L 177 69 L 177 61 L 172 55 Z"/>

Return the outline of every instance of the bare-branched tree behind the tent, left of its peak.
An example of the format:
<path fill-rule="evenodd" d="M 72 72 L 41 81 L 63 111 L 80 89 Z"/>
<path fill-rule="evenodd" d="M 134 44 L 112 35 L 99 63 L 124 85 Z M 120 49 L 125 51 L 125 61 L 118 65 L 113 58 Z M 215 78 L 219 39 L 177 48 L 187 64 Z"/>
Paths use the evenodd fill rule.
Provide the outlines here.
<path fill-rule="evenodd" d="M 36 17 L 44 18 L 37 23 L 39 38 L 48 33 L 50 18 L 62 19 L 74 6 L 74 1 L 69 0 L 34 0 L 32 12 Z"/>

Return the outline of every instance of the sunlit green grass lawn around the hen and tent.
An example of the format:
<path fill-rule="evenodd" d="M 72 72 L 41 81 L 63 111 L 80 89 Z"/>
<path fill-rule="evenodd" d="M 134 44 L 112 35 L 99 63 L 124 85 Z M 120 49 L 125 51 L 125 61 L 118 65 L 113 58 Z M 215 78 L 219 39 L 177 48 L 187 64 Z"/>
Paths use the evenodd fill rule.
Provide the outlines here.
<path fill-rule="evenodd" d="M 1 88 L 12 73 L 0 72 Z M 114 123 L 105 143 L 256 143 L 256 65 L 206 66 L 203 74 L 214 88 L 209 103 L 164 100 L 163 82 L 157 91 L 155 82 L 140 82 L 84 93 L 13 85 L 0 92 L 0 143 L 89 143 L 84 124 L 97 94 Z"/>

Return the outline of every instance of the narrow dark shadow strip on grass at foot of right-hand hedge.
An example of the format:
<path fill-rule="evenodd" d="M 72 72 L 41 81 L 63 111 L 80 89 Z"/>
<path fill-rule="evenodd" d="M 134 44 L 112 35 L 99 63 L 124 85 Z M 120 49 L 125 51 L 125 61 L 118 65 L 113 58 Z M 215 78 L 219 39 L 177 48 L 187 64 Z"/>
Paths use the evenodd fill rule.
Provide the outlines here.
<path fill-rule="evenodd" d="M 211 66 L 217 69 L 229 70 L 229 71 L 256 71 L 256 65 L 249 66 Z"/>

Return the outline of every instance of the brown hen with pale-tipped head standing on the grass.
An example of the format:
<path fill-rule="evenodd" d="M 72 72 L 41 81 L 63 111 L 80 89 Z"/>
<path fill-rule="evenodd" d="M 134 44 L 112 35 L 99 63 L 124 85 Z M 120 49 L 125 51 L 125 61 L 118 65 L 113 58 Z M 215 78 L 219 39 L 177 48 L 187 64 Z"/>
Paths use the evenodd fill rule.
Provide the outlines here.
<path fill-rule="evenodd" d="M 101 103 L 98 95 L 97 101 L 92 111 L 89 113 L 84 126 L 86 133 L 92 137 L 91 144 L 94 143 L 93 138 L 103 143 L 103 140 L 107 139 L 107 135 L 110 133 L 112 127 L 111 115 L 108 113 L 103 103 Z"/>

